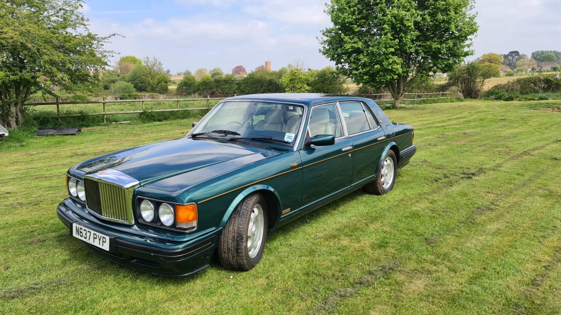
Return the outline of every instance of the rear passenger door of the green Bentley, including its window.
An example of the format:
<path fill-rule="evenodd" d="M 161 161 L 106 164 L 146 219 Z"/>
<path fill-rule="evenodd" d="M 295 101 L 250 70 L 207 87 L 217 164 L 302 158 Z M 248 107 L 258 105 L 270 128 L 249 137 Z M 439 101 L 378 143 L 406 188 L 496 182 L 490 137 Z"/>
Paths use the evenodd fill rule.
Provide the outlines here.
<path fill-rule="evenodd" d="M 366 104 L 344 101 L 339 106 L 354 150 L 351 179 L 354 186 L 374 179 L 385 149 L 385 133 Z"/>

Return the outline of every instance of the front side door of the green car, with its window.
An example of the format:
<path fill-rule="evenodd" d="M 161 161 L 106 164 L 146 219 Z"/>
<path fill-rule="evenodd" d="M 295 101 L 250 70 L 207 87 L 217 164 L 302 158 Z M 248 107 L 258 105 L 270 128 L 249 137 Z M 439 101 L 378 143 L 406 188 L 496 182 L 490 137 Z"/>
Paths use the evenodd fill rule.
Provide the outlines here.
<path fill-rule="evenodd" d="M 302 202 L 304 209 L 351 186 L 352 140 L 344 136 L 337 105 L 314 106 L 307 138 L 334 135 L 335 144 L 307 146 L 302 157 Z"/>

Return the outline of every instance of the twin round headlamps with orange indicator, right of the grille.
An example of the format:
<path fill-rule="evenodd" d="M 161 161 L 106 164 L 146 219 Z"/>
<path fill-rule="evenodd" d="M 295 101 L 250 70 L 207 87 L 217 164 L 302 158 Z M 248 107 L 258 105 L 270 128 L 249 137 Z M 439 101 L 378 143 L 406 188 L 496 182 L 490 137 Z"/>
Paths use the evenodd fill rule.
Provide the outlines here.
<path fill-rule="evenodd" d="M 143 223 L 182 230 L 194 230 L 197 228 L 199 215 L 196 203 L 178 205 L 170 202 L 138 198 L 136 209 L 139 220 Z"/>

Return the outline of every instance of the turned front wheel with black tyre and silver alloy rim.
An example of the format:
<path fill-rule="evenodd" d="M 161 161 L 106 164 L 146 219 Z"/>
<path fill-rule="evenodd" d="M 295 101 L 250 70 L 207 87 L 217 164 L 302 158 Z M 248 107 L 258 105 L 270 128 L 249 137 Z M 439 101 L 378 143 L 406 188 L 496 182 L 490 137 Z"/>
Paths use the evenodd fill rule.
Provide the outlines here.
<path fill-rule="evenodd" d="M 222 266 L 247 271 L 263 256 L 267 239 L 267 204 L 259 193 L 245 197 L 236 207 L 218 240 Z"/>

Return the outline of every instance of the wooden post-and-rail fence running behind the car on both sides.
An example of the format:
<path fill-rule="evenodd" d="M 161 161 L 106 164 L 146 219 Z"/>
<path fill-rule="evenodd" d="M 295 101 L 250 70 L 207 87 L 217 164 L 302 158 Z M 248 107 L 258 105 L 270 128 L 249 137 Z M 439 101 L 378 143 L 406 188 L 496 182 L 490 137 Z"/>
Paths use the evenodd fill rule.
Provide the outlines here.
<path fill-rule="evenodd" d="M 449 92 L 437 92 L 437 93 L 407 93 L 407 95 L 415 95 L 415 98 L 405 98 L 403 101 L 419 101 L 419 100 L 435 100 L 435 99 L 449 99 L 452 98 L 452 93 Z M 437 97 L 429 97 L 426 96 L 436 96 Z M 353 95 L 350 95 L 353 96 Z M 393 101 L 393 99 L 377 99 L 378 96 L 383 98 L 384 96 L 391 96 L 391 94 L 366 94 L 366 95 L 356 95 L 366 98 L 371 98 L 375 101 Z M 419 98 L 418 96 L 422 96 Z M 101 101 L 55 101 L 55 102 L 44 102 L 44 103 L 27 103 L 25 106 L 43 106 L 43 105 L 56 105 L 57 106 L 57 114 L 56 115 L 45 115 L 46 118 L 56 118 L 56 117 L 79 117 L 82 115 L 103 115 L 103 122 L 106 122 L 107 115 L 118 115 L 118 114 L 140 114 L 144 112 L 148 113 L 158 113 L 158 112 L 180 112 L 182 110 L 209 110 L 210 101 L 211 100 L 223 100 L 224 98 L 215 98 L 206 96 L 206 98 L 196 98 L 196 99 L 163 99 L 163 100 L 152 100 L 152 99 L 142 99 L 142 100 L 101 100 Z M 188 101 L 206 101 L 205 107 L 197 107 L 197 108 L 180 108 L 180 102 L 188 102 Z M 144 106 L 144 102 L 176 102 L 176 108 L 170 109 L 150 109 L 146 110 Z M 115 103 L 141 103 L 142 110 L 129 110 L 126 112 L 107 112 L 107 104 L 115 104 Z M 98 113 L 77 113 L 77 114 L 61 114 L 60 105 L 75 105 L 75 104 L 103 104 L 103 112 Z M 391 104 L 387 104 L 385 106 L 392 106 Z"/>

